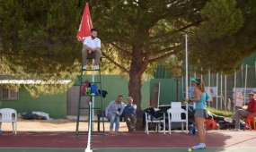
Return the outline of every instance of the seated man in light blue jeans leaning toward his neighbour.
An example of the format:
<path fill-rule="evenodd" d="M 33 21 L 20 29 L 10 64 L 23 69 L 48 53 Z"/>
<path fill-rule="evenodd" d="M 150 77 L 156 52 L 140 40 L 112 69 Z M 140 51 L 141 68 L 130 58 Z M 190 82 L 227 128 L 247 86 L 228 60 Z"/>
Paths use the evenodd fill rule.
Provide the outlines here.
<path fill-rule="evenodd" d="M 110 101 L 110 104 L 106 107 L 105 115 L 108 121 L 110 121 L 110 133 L 117 133 L 119 131 L 119 116 L 125 108 L 122 100 L 123 96 L 119 95 L 116 100 Z M 113 132 L 114 122 L 116 123 L 115 132 Z"/>

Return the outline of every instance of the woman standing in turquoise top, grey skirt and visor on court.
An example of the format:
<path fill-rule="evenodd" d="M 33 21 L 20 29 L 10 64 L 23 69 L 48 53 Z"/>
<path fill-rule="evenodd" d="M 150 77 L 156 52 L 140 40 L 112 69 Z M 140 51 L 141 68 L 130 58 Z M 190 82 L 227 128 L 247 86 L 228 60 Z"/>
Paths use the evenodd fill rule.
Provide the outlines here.
<path fill-rule="evenodd" d="M 192 147 L 192 149 L 204 149 L 206 148 L 206 130 L 204 128 L 204 122 L 205 118 L 207 118 L 206 102 L 209 95 L 205 91 L 205 84 L 203 80 L 200 78 L 192 78 L 191 81 L 195 87 L 195 97 L 186 99 L 186 102 L 194 102 L 194 108 L 196 109 L 196 127 L 199 131 L 199 143 Z"/>

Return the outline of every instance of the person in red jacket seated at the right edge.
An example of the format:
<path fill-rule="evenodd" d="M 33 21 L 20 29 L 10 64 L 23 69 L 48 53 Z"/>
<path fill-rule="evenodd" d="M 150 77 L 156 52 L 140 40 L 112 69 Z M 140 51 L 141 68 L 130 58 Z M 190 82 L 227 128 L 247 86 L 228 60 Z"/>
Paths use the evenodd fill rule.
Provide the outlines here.
<path fill-rule="evenodd" d="M 253 93 L 249 93 L 249 104 L 247 108 L 237 110 L 232 117 L 225 118 L 225 122 L 235 122 L 234 131 L 240 131 L 240 120 L 242 117 L 246 117 L 249 114 L 256 112 L 256 99 L 253 98 Z"/>

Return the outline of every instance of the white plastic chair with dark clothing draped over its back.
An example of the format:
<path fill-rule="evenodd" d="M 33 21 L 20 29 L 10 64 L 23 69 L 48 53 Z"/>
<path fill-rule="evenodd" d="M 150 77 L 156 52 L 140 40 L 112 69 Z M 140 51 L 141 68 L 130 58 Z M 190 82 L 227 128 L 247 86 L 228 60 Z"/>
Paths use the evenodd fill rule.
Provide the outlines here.
<path fill-rule="evenodd" d="M 158 108 L 154 108 L 154 112 L 159 111 L 160 109 Z M 158 131 L 160 131 L 160 124 L 163 123 L 163 134 L 165 134 L 165 114 L 163 114 L 163 120 L 159 120 L 159 119 L 153 119 L 151 120 L 150 118 L 148 118 L 147 113 L 145 112 L 146 115 L 146 128 L 145 128 L 145 133 L 149 134 L 148 132 L 148 123 L 158 123 Z"/>

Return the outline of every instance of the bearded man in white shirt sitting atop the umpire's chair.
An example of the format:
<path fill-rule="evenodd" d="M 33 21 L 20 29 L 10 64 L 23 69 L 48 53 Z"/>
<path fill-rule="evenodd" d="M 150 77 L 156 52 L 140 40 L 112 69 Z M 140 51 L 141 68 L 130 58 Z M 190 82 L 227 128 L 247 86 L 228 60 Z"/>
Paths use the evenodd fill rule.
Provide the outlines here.
<path fill-rule="evenodd" d="M 87 56 L 95 57 L 95 61 L 93 63 L 93 69 L 98 70 L 99 69 L 98 65 L 102 57 L 102 50 L 101 50 L 101 39 L 97 38 L 97 30 L 95 29 L 91 30 L 91 36 L 84 38 L 84 45 L 82 49 L 82 59 L 83 59 L 84 70 L 88 68 Z"/>

